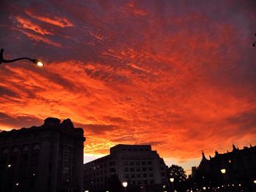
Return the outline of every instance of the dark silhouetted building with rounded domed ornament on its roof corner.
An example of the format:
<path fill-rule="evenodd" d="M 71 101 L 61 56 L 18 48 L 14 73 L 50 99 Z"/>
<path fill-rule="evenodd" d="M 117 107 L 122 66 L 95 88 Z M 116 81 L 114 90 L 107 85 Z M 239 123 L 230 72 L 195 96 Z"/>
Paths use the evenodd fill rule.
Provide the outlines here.
<path fill-rule="evenodd" d="M 69 119 L 1 131 L 0 191 L 82 191 L 84 141 Z"/>

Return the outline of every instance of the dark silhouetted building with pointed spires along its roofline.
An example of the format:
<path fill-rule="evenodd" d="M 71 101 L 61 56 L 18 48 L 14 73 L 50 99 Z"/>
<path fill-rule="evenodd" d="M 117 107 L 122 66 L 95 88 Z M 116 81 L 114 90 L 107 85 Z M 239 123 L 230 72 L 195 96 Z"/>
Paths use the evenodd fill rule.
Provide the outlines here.
<path fill-rule="evenodd" d="M 217 191 L 255 191 L 256 147 L 239 150 L 233 145 L 232 152 L 218 153 L 207 159 L 202 152 L 198 167 L 192 167 L 193 188 L 209 188 Z"/>

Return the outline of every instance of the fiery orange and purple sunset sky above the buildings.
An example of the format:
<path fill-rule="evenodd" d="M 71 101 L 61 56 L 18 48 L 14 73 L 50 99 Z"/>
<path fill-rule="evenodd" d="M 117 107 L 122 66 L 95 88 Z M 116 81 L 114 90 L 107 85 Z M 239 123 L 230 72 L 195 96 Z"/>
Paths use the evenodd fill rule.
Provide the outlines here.
<path fill-rule="evenodd" d="M 256 1 L 0 2 L 0 130 L 70 118 L 85 161 L 151 144 L 167 164 L 256 144 Z"/>

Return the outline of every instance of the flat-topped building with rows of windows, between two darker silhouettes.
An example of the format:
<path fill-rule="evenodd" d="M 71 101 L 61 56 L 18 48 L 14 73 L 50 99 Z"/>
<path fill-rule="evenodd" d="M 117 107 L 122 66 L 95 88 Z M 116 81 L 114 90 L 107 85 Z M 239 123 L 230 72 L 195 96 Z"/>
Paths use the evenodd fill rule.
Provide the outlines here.
<path fill-rule="evenodd" d="M 157 192 L 169 187 L 165 162 L 151 145 L 111 147 L 110 155 L 83 165 L 83 180 L 84 190 L 90 192 L 115 191 L 111 182 L 127 182 L 127 191 Z"/>

